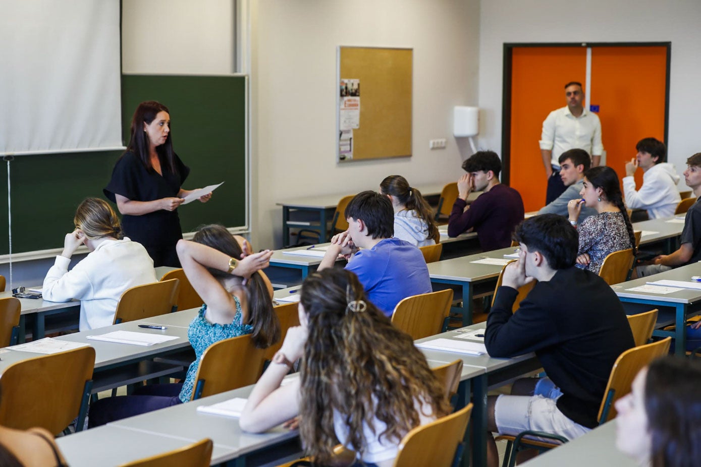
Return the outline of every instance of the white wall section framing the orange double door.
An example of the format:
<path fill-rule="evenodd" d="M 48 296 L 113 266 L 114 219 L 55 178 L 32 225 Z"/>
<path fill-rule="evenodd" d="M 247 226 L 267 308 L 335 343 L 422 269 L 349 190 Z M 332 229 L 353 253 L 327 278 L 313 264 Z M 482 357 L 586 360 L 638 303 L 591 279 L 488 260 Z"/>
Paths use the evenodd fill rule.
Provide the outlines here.
<path fill-rule="evenodd" d="M 701 76 L 700 19 L 700 1 L 482 1 L 479 145 L 497 148 L 501 153 L 503 43 L 671 41 L 668 153 L 669 162 L 674 162 L 681 173 L 686 158 L 701 151 L 697 137 L 701 120 L 701 106 L 697 102 L 700 95 L 697 82 Z M 644 69 L 630 70 L 630 79 L 644 73 Z M 537 141 L 533 144 L 537 153 Z"/>

